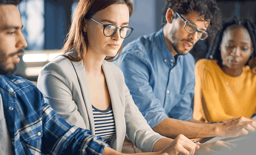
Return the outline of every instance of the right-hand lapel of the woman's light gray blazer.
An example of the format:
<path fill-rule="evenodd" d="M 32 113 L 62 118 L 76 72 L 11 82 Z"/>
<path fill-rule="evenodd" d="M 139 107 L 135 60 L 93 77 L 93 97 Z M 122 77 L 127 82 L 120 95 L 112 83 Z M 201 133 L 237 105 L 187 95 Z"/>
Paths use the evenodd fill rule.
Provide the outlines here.
<path fill-rule="evenodd" d="M 109 66 L 106 64 L 105 61 L 102 64 L 102 69 L 105 74 L 106 82 L 108 85 L 108 91 L 111 98 L 111 105 L 112 105 L 114 120 L 116 124 L 116 144 L 114 144 L 116 146 L 113 146 L 113 147 L 122 148 L 122 146 L 119 146 L 119 145 L 123 144 L 123 141 L 125 138 L 124 133 L 126 132 L 126 128 L 125 128 L 124 115 L 122 113 L 119 91 L 117 89 L 117 84 L 114 80 L 111 68 L 109 68 Z"/>

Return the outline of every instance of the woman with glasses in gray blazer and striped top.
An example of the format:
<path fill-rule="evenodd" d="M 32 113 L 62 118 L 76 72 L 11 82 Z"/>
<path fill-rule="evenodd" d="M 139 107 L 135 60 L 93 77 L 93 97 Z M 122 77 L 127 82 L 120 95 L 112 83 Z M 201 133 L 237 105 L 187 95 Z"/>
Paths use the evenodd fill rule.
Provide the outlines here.
<path fill-rule="evenodd" d="M 64 54 L 44 66 L 38 88 L 68 123 L 102 137 L 103 154 L 120 155 L 127 135 L 147 155 L 192 155 L 199 146 L 185 136 L 165 138 L 149 127 L 111 62 L 133 31 L 132 12 L 130 0 L 80 0 Z"/>

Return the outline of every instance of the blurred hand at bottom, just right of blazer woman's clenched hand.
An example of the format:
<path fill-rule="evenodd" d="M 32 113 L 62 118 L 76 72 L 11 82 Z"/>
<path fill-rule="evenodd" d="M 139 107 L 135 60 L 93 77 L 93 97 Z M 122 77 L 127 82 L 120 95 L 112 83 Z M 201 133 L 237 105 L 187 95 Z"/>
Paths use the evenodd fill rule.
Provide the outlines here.
<path fill-rule="evenodd" d="M 199 144 L 200 149 L 195 151 L 195 155 L 216 155 L 216 154 L 226 154 L 236 145 L 230 144 L 224 141 L 213 141 L 210 143 Z"/>

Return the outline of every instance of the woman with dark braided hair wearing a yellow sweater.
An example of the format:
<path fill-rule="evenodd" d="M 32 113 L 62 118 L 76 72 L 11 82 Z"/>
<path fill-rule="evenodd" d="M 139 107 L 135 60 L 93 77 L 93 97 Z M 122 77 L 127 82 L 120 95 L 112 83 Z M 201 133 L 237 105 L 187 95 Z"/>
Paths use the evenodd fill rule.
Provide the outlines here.
<path fill-rule="evenodd" d="M 207 59 L 195 66 L 195 119 L 215 122 L 256 113 L 255 50 L 255 28 L 249 20 L 223 25 Z"/>

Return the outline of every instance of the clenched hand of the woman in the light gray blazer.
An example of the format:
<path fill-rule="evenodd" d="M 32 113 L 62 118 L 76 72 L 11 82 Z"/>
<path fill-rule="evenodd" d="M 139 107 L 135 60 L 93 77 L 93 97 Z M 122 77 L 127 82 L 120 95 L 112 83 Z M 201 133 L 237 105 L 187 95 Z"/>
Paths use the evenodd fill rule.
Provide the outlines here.
<path fill-rule="evenodd" d="M 158 153 L 159 155 L 194 155 L 196 149 L 199 149 L 197 144 L 184 135 L 178 135 L 169 146 Z"/>

